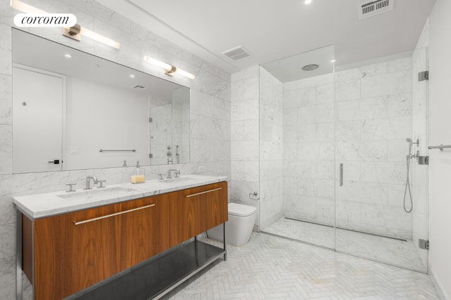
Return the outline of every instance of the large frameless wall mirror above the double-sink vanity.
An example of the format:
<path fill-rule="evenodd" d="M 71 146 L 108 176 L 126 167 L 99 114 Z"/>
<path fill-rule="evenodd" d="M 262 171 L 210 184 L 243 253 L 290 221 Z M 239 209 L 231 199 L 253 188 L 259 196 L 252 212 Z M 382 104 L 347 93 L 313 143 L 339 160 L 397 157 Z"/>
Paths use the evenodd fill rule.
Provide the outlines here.
<path fill-rule="evenodd" d="M 13 173 L 190 162 L 190 89 L 13 29 Z"/>

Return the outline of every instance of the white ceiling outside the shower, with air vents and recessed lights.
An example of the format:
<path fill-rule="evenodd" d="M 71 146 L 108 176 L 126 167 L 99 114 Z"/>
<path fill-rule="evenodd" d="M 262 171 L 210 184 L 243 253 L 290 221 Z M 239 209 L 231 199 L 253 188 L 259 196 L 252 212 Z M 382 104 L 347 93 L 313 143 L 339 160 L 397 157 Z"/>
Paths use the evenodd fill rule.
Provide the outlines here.
<path fill-rule="evenodd" d="M 362 0 L 97 1 L 231 73 L 330 45 L 336 66 L 410 51 L 435 4 L 391 0 L 392 11 L 359 20 Z M 253 56 L 221 55 L 236 46 Z"/>

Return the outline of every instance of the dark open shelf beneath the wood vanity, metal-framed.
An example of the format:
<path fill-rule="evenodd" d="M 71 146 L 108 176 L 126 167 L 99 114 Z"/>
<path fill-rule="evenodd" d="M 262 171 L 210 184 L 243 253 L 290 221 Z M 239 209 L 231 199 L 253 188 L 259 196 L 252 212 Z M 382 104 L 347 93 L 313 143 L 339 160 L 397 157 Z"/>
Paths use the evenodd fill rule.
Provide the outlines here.
<path fill-rule="evenodd" d="M 66 300 L 159 299 L 225 254 L 222 248 L 192 240 Z"/>

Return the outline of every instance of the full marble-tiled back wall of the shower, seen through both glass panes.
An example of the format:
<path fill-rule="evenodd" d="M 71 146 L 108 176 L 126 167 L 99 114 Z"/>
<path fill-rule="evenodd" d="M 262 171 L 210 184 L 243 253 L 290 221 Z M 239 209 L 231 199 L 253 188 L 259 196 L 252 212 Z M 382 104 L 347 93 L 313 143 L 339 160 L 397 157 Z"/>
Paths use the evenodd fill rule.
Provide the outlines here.
<path fill-rule="evenodd" d="M 283 113 L 285 216 L 333 224 L 336 214 L 337 226 L 412 238 L 402 209 L 411 57 L 285 83 Z"/>

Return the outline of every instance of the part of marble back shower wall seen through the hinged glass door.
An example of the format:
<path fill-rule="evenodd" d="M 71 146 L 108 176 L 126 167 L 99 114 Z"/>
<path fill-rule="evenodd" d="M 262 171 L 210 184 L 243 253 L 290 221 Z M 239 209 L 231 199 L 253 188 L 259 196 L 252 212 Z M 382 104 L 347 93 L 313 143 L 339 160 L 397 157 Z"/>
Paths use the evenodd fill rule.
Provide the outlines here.
<path fill-rule="evenodd" d="M 402 208 L 412 137 L 412 58 L 336 73 L 337 226 L 412 238 Z M 337 175 L 338 176 L 338 175 Z"/>

